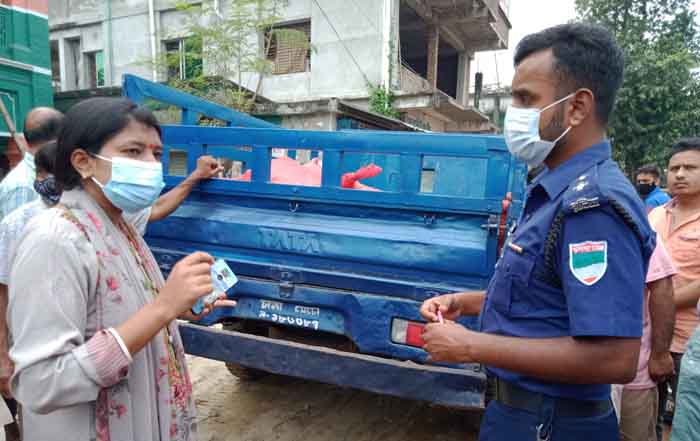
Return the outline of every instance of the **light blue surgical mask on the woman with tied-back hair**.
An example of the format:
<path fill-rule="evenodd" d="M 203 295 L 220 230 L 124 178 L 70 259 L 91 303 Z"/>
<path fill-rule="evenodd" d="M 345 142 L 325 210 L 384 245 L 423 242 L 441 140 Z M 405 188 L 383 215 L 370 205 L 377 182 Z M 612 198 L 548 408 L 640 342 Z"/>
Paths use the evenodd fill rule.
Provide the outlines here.
<path fill-rule="evenodd" d="M 92 180 L 115 207 L 127 213 L 135 213 L 152 206 L 158 200 L 165 187 L 160 162 L 94 156 L 112 163 L 112 178 L 107 184 L 103 185 L 94 176 Z"/>

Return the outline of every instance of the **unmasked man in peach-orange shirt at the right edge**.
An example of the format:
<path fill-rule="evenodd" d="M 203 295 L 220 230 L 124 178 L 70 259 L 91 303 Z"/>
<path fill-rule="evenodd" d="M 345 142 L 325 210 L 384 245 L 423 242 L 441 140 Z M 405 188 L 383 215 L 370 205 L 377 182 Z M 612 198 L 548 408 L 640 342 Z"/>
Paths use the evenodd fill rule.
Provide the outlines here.
<path fill-rule="evenodd" d="M 696 306 L 700 299 L 700 137 L 683 138 L 671 148 L 667 181 L 673 199 L 649 213 L 651 225 L 678 269 L 678 274 L 673 278 L 676 324 L 671 343 L 676 375 L 668 382 L 659 384 L 659 434 L 663 429 L 662 416 L 667 401 L 676 403 L 676 409 L 679 407 L 676 395 L 679 389 L 678 373 L 682 375 L 683 370 L 681 359 L 699 323 Z M 690 360 L 689 363 L 692 363 L 692 358 Z M 675 418 L 673 416 L 670 421 L 674 432 Z"/>

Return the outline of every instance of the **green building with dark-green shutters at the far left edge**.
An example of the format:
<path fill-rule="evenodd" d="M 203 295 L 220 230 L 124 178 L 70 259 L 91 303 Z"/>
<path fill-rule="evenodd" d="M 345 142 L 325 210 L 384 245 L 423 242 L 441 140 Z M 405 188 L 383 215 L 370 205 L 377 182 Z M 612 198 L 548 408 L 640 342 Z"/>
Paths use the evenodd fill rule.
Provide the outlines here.
<path fill-rule="evenodd" d="M 48 0 L 0 1 L 0 99 L 17 130 L 32 107 L 51 106 Z M 0 118 L 0 153 L 20 153 Z"/>

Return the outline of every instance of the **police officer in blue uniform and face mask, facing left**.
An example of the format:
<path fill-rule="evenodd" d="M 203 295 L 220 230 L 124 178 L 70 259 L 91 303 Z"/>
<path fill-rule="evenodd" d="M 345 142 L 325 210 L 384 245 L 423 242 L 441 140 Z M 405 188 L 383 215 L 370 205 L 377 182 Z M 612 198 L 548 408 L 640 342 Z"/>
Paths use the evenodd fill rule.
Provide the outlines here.
<path fill-rule="evenodd" d="M 610 384 L 636 373 L 647 263 L 655 245 L 605 138 L 623 54 L 604 28 L 566 24 L 518 45 L 505 138 L 547 170 L 486 293 L 421 307 L 434 361 L 487 366 L 480 440 L 617 441 Z M 450 320 L 480 313 L 480 332 Z"/>

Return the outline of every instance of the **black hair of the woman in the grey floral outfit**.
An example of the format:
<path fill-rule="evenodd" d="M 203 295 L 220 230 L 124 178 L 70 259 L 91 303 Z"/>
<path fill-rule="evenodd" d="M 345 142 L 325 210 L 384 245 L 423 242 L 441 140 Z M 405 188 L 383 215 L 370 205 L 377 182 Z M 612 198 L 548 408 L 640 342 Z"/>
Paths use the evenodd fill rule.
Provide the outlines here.
<path fill-rule="evenodd" d="M 71 107 L 58 136 L 54 167 L 54 175 L 61 188 L 71 190 L 80 185 L 80 175 L 71 163 L 75 150 L 99 153 L 105 143 L 131 121 L 152 127 L 158 131 L 158 135 L 161 134 L 153 113 L 127 98 L 90 98 Z"/>

